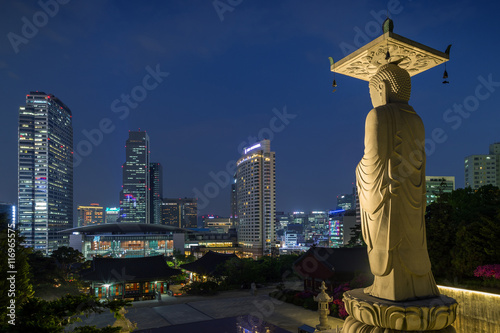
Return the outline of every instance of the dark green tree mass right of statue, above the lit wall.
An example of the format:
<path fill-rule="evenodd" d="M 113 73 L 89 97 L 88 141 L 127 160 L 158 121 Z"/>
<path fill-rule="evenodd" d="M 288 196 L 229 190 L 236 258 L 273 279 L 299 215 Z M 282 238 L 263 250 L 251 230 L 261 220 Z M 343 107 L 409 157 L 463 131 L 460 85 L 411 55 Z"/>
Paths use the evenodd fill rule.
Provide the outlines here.
<path fill-rule="evenodd" d="M 500 190 L 491 185 L 444 193 L 427 207 L 427 246 L 436 277 L 466 279 L 500 263 Z"/>

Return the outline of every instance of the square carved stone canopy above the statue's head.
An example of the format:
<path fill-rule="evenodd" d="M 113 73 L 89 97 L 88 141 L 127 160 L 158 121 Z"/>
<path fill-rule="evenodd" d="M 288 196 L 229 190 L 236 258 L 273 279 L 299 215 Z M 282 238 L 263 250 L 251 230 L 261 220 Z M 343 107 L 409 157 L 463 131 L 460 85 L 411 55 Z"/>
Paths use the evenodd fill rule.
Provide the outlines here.
<path fill-rule="evenodd" d="M 387 59 L 387 51 L 390 57 Z M 365 46 L 331 65 L 331 71 L 370 81 L 381 65 L 398 62 L 410 76 L 449 60 L 449 55 L 387 31 Z"/>

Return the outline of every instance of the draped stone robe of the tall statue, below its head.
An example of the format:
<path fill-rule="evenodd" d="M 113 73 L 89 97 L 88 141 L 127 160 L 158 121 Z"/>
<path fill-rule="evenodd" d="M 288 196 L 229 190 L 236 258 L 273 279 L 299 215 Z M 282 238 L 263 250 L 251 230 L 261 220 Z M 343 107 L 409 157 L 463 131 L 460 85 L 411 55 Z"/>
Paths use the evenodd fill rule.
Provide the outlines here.
<path fill-rule="evenodd" d="M 401 301 L 439 295 L 425 236 L 425 132 L 408 104 L 366 117 L 365 152 L 356 168 L 363 238 L 375 276 L 365 292 Z"/>

